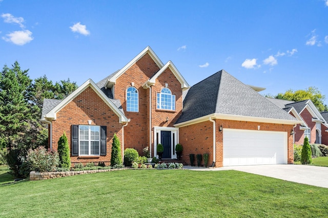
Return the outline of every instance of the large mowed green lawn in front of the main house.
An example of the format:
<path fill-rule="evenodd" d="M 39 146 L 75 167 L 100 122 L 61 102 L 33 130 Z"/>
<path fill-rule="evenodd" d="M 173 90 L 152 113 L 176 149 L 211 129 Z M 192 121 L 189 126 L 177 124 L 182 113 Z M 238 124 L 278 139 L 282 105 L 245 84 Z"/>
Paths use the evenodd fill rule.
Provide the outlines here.
<path fill-rule="evenodd" d="M 122 170 L 0 186 L 0 217 L 326 217 L 328 189 L 237 171 Z"/>

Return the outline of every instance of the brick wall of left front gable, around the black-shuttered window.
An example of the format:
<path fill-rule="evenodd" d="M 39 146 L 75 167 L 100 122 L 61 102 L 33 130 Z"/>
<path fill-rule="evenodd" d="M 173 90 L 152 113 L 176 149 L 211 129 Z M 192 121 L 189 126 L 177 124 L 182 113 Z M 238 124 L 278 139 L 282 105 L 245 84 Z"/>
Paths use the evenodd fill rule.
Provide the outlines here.
<path fill-rule="evenodd" d="M 91 125 L 107 126 L 107 155 L 71 157 L 71 162 L 73 164 L 79 162 L 105 162 L 106 165 L 109 165 L 112 138 L 116 133 L 119 140 L 122 141 L 122 124 L 119 123 L 118 116 L 90 86 L 57 112 L 57 119 L 52 122 L 52 148 L 57 150 L 59 137 L 66 132 L 71 149 L 71 126 L 88 125 L 88 120 L 92 120 Z"/>

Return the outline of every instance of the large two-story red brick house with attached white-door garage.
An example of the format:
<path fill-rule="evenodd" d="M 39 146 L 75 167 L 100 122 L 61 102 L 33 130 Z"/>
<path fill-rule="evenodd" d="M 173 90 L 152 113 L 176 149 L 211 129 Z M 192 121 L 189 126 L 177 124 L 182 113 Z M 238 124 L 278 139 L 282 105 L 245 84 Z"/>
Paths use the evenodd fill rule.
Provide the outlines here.
<path fill-rule="evenodd" d="M 221 70 L 190 87 L 169 61 L 146 47 L 98 83 L 91 79 L 63 101 L 45 99 L 42 121 L 50 148 L 71 138 L 71 161 L 110 164 L 114 133 L 126 148 L 149 147 L 175 159 L 175 145 L 189 154 L 209 153 L 214 166 L 293 162 L 293 127 L 299 120 Z"/>

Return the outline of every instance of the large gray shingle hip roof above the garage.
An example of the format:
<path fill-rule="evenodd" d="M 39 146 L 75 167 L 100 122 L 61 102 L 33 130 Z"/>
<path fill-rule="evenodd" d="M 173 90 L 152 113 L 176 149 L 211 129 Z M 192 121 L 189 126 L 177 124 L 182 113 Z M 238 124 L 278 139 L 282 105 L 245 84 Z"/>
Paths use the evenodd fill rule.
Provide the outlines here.
<path fill-rule="evenodd" d="M 212 113 L 296 120 L 224 70 L 190 88 L 176 124 Z"/>

